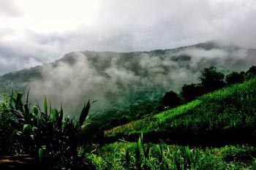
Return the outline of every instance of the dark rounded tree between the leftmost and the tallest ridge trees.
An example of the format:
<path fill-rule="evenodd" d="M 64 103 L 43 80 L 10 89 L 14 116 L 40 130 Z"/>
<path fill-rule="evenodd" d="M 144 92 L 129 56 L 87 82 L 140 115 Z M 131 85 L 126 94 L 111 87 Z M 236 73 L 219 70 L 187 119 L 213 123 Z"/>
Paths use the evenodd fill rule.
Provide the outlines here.
<path fill-rule="evenodd" d="M 198 96 L 201 96 L 202 93 L 202 88 L 200 85 L 196 84 L 190 84 L 190 85 L 183 85 L 181 88 L 181 96 L 184 98 L 185 101 L 192 101 Z"/>

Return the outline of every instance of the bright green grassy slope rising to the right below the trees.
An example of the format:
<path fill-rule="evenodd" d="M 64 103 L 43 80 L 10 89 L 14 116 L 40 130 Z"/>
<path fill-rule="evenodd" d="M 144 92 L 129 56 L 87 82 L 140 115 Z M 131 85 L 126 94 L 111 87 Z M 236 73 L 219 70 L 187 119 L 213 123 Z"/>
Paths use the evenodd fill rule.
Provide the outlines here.
<path fill-rule="evenodd" d="M 105 131 L 105 136 L 133 134 L 209 134 L 256 125 L 256 80 L 201 96 L 180 107 Z"/>

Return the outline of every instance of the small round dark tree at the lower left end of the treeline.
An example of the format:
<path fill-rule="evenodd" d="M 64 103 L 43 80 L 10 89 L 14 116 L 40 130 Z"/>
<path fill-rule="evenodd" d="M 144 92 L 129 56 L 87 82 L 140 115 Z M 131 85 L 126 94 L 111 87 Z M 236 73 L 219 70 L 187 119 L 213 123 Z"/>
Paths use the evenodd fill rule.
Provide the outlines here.
<path fill-rule="evenodd" d="M 165 96 L 162 98 L 162 105 L 164 107 L 173 108 L 181 104 L 181 98 L 178 97 L 178 94 L 174 91 L 169 91 L 165 93 Z"/>

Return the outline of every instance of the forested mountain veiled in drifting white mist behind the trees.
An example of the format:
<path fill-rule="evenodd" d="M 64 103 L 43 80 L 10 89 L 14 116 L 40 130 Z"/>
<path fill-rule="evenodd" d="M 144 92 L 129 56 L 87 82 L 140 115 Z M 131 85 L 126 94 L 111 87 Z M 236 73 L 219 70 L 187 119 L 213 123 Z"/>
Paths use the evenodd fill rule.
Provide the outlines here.
<path fill-rule="evenodd" d="M 56 107 L 61 101 L 70 114 L 91 98 L 98 101 L 98 112 L 132 104 L 142 95 L 154 100 L 168 90 L 178 92 L 185 83 L 197 82 L 204 67 L 217 66 L 224 73 L 246 70 L 255 57 L 254 49 L 217 41 L 149 52 L 72 52 L 53 63 L 2 75 L 0 90 L 26 86 L 31 101 L 47 96 Z"/>

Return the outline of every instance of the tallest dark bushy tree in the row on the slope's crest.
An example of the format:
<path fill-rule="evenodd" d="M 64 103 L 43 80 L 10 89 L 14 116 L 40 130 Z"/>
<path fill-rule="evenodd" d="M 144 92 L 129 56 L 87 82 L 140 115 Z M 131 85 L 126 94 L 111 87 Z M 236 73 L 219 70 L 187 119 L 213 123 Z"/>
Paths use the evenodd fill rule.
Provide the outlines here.
<path fill-rule="evenodd" d="M 204 93 L 223 88 L 225 86 L 224 77 L 224 74 L 217 72 L 214 66 L 203 69 L 199 79 Z"/>

